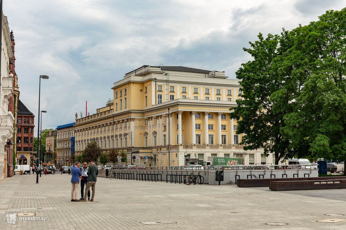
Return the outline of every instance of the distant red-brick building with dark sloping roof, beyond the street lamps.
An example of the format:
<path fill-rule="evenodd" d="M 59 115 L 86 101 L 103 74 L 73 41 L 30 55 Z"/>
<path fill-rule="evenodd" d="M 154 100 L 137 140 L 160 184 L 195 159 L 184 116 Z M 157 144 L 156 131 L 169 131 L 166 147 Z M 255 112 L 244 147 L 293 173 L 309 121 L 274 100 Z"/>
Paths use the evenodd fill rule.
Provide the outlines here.
<path fill-rule="evenodd" d="M 17 164 L 33 165 L 35 162 L 35 157 L 33 156 L 34 117 L 34 114 L 18 100 L 16 138 Z M 21 155 L 24 155 L 24 158 L 22 158 Z"/>

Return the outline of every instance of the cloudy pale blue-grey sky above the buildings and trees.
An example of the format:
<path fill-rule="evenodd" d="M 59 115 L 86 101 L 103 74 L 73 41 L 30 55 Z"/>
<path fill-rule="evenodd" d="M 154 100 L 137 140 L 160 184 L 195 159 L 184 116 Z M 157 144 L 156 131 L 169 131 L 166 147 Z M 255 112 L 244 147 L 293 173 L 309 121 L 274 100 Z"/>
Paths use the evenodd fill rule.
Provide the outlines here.
<path fill-rule="evenodd" d="M 317 21 L 346 0 L 13 0 L 19 99 L 42 129 L 75 122 L 112 100 L 113 83 L 143 65 L 225 71 L 230 79 L 258 33 Z M 35 128 L 36 129 L 36 128 Z M 37 129 L 36 129 L 37 132 Z M 36 133 L 35 132 L 35 133 Z"/>

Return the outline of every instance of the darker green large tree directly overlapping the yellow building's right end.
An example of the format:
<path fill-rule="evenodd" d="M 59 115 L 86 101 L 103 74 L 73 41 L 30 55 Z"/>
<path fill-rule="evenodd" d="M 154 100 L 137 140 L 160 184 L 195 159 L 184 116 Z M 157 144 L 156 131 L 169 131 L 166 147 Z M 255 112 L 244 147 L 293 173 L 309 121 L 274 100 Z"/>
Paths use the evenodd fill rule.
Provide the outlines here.
<path fill-rule="evenodd" d="M 264 38 L 260 33 L 258 41 L 249 42 L 251 48 L 243 48 L 251 54 L 253 61 L 243 63 L 236 72 L 240 81 L 243 100 L 237 100 L 237 106 L 230 108 L 230 118 L 237 120 L 237 134 L 244 133 L 244 150 L 263 148 L 264 154 L 275 154 L 275 164 L 279 164 L 293 152 L 288 148 L 281 128 L 285 126 L 283 116 L 292 111 L 288 98 L 277 102 L 280 90 L 285 82 L 278 79 L 277 66 L 280 55 L 286 49 L 279 46 L 280 36 L 268 34 Z M 290 44 L 287 42 L 287 44 Z M 287 45 L 288 46 L 288 45 Z M 276 93 L 276 96 L 275 96 Z"/>

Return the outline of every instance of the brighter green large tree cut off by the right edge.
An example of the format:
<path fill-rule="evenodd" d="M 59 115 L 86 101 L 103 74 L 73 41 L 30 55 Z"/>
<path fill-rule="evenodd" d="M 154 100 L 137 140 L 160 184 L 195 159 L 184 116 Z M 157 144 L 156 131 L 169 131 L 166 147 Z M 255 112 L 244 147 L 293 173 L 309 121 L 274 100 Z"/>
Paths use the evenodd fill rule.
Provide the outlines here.
<path fill-rule="evenodd" d="M 292 68 L 295 82 L 294 111 L 286 114 L 283 129 L 291 148 L 305 150 L 315 159 L 346 159 L 346 8 L 329 10 L 316 22 L 301 27 L 307 33 L 295 36 L 303 43 L 287 55 L 299 52 L 307 64 Z"/>

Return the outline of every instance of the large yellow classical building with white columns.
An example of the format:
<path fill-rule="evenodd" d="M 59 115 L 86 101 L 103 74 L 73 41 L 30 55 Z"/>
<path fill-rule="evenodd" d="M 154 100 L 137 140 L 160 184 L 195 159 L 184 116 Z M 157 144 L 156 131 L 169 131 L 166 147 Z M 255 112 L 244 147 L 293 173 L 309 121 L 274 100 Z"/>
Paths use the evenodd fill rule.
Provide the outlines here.
<path fill-rule="evenodd" d="M 77 119 L 75 153 L 95 140 L 104 152 L 127 152 L 128 164 L 182 166 L 187 159 L 242 158 L 242 164 L 273 163 L 263 149 L 244 151 L 236 135 L 239 80 L 225 72 L 180 66 L 142 66 L 114 83 L 113 100 Z M 170 148 L 168 148 L 170 147 Z"/>

